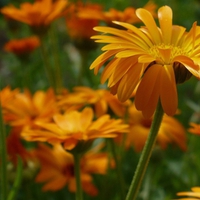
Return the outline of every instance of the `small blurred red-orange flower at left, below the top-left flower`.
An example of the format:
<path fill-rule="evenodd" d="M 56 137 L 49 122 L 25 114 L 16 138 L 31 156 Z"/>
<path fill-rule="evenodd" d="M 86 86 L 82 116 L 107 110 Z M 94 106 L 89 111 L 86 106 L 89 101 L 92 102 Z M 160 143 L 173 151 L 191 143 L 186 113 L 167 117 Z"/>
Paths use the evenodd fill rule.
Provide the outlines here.
<path fill-rule="evenodd" d="M 25 55 L 31 53 L 37 47 L 40 46 L 40 40 L 36 36 L 11 40 L 4 46 L 4 50 L 14 53 L 16 55 Z"/>

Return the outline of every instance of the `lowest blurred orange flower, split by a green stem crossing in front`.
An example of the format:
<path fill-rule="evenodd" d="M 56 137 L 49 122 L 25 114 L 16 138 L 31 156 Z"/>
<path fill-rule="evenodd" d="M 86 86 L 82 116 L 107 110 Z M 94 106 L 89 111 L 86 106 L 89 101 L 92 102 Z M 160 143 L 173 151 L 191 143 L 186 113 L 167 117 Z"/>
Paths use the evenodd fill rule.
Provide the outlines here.
<path fill-rule="evenodd" d="M 43 191 L 56 191 L 65 185 L 69 191 L 76 192 L 73 155 L 65 151 L 60 145 L 53 148 L 40 145 L 35 150 L 41 168 L 36 176 L 36 182 L 44 183 Z M 91 196 L 98 194 L 93 185 L 92 174 L 106 174 L 108 156 L 96 150 L 87 152 L 80 161 L 81 183 L 83 190 Z"/>

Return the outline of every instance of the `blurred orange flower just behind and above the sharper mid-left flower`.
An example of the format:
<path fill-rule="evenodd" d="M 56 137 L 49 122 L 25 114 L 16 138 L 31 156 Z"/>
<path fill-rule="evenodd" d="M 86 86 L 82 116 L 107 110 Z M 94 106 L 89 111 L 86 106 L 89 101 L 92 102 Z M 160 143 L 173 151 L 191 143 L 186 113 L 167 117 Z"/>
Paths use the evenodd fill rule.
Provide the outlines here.
<path fill-rule="evenodd" d="M 123 117 L 128 104 L 128 101 L 121 103 L 116 96 L 113 96 L 105 89 L 93 90 L 89 87 L 75 87 L 74 92 L 63 97 L 58 102 L 58 105 L 61 107 L 64 105 L 79 105 L 79 107 L 91 105 L 94 107 L 97 117 L 106 114 L 109 109 L 115 115 Z"/>

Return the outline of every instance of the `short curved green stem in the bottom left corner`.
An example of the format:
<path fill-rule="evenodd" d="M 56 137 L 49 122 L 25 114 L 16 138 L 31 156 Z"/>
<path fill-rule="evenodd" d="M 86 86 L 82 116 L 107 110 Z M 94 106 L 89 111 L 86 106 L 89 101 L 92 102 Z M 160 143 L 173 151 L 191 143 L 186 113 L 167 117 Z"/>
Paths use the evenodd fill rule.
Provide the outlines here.
<path fill-rule="evenodd" d="M 20 156 L 18 156 L 18 160 L 17 160 L 17 172 L 16 172 L 16 178 L 15 178 L 15 182 L 13 184 L 13 188 L 10 191 L 9 195 L 8 195 L 8 199 L 7 200 L 14 200 L 16 199 L 16 195 L 17 192 L 19 190 L 19 187 L 21 185 L 21 180 L 22 180 L 22 171 L 23 171 L 23 162 Z"/>

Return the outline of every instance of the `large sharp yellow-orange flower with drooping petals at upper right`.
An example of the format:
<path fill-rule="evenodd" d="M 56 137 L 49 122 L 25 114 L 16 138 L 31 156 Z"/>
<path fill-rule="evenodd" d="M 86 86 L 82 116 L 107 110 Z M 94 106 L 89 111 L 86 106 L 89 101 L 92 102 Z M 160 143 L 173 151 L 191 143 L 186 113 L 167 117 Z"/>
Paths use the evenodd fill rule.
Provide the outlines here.
<path fill-rule="evenodd" d="M 136 15 L 145 27 L 123 22 L 114 23 L 126 30 L 95 27 L 104 34 L 92 38 L 108 44 L 90 69 L 96 74 L 109 61 L 101 82 L 108 80 L 111 92 L 121 101 L 126 101 L 137 88 L 135 105 L 145 117 L 153 115 L 159 99 L 164 112 L 174 115 L 178 105 L 176 82 L 187 80 L 191 74 L 200 78 L 200 28 L 194 23 L 187 32 L 184 27 L 173 25 L 168 6 L 158 10 L 160 27 L 146 9 L 137 9 Z"/>

